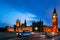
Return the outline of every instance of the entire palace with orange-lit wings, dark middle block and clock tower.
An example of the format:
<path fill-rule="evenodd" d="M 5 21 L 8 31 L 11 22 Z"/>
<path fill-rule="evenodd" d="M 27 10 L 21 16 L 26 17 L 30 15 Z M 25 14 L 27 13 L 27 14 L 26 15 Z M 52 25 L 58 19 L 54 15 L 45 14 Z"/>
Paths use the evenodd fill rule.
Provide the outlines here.
<path fill-rule="evenodd" d="M 52 26 L 46 26 L 43 25 L 43 21 L 37 21 L 37 22 L 32 22 L 31 26 L 26 25 L 26 20 L 24 24 L 20 24 L 20 20 L 16 20 L 16 25 L 14 27 L 7 27 L 7 31 L 11 32 L 21 32 L 23 30 L 29 30 L 29 31 L 37 31 L 37 32 L 58 32 L 58 15 L 56 12 L 56 9 L 54 8 L 53 14 L 52 14 Z"/>

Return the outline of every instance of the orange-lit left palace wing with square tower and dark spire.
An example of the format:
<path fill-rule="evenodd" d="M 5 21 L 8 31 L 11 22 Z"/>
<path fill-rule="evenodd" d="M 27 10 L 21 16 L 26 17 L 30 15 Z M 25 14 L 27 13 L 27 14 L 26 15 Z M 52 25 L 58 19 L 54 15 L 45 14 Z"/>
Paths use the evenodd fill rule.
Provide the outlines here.
<path fill-rule="evenodd" d="M 8 27 L 7 28 L 8 31 L 10 32 L 22 32 L 23 30 L 29 30 L 32 31 L 32 26 L 26 26 L 26 20 L 24 22 L 24 24 L 20 24 L 20 20 L 16 20 L 16 25 L 14 25 L 14 27 Z"/>

